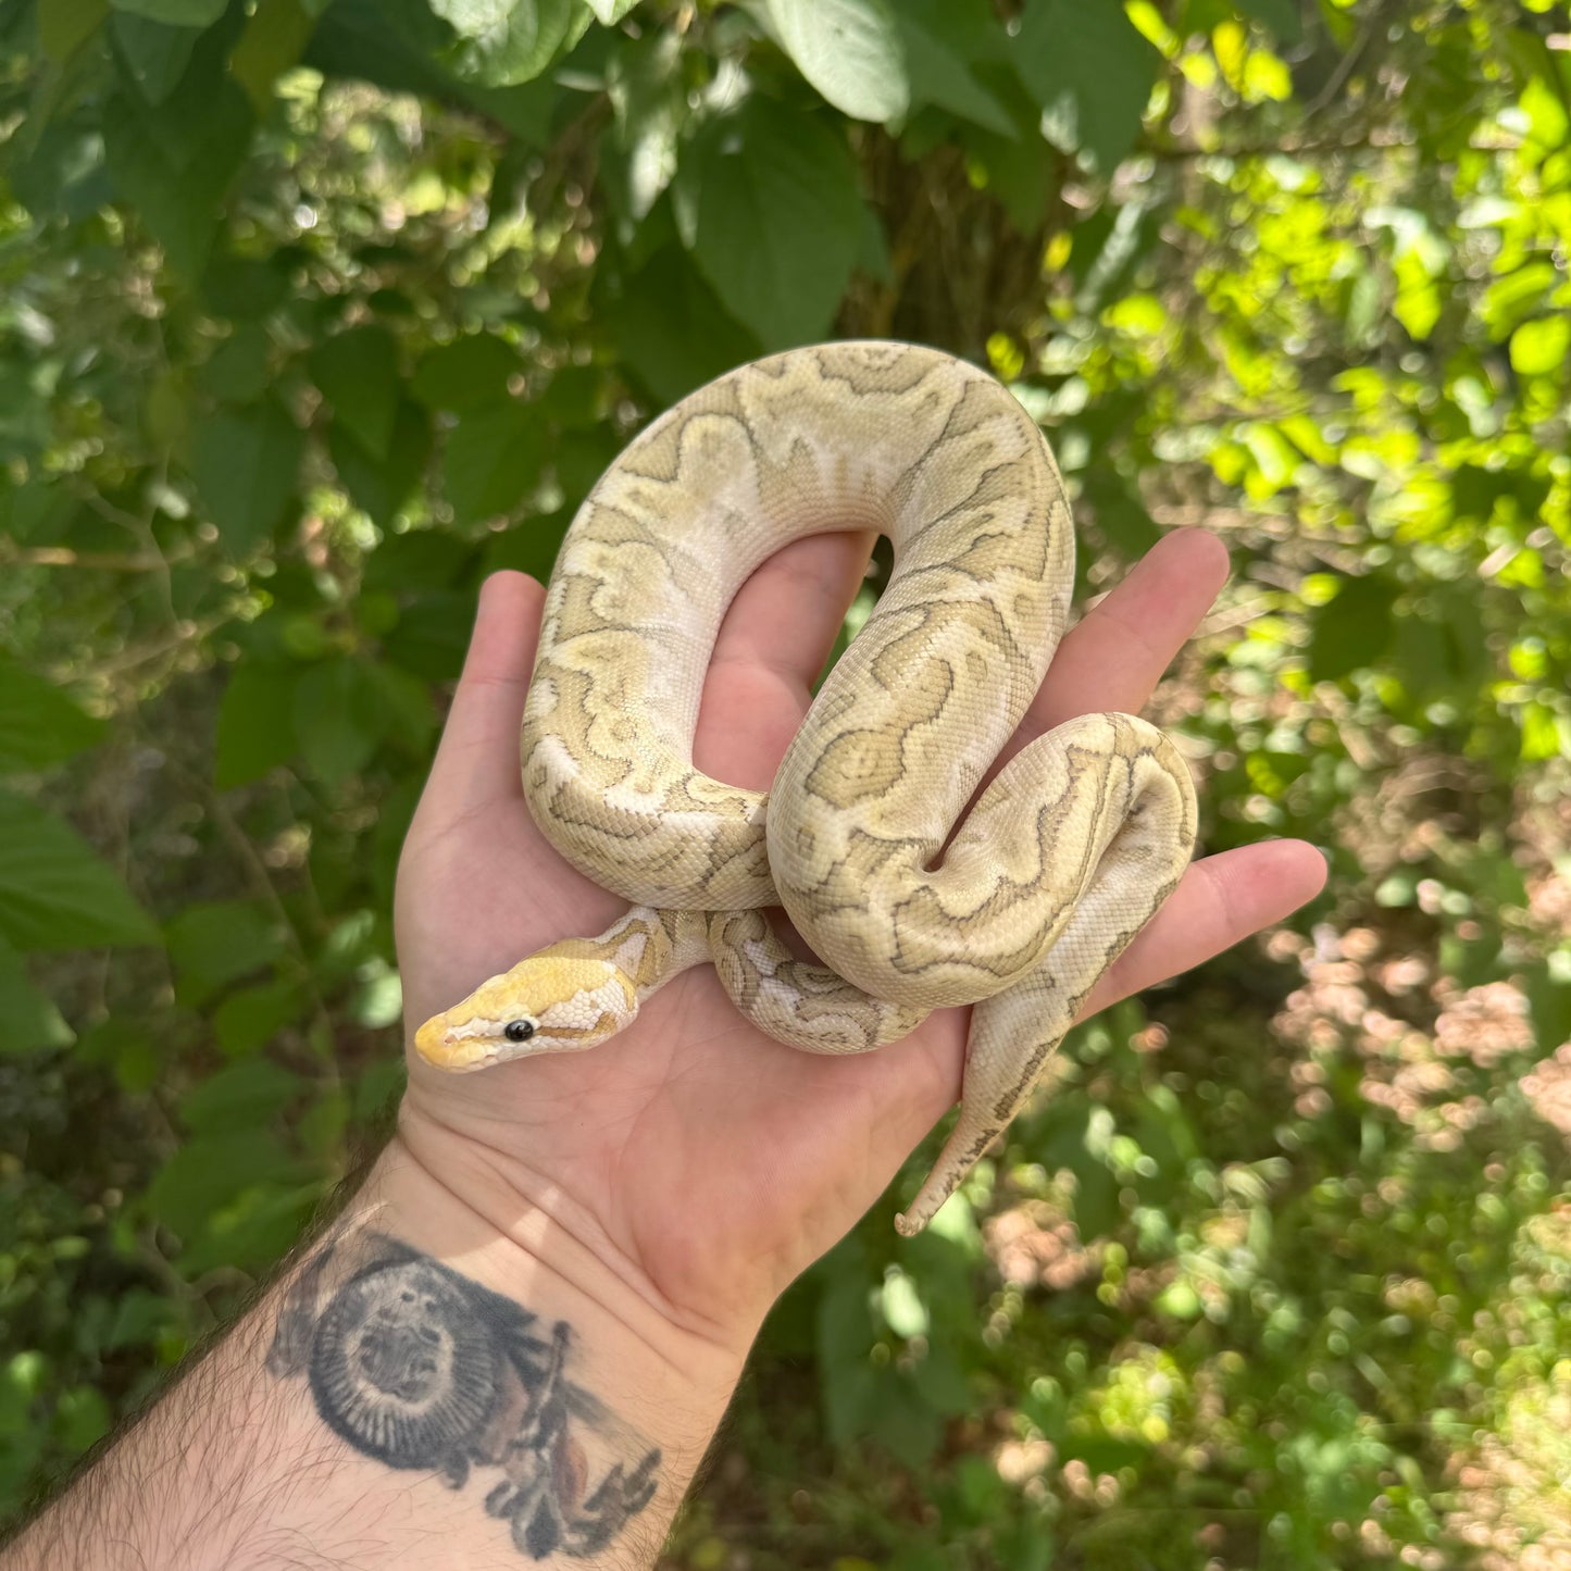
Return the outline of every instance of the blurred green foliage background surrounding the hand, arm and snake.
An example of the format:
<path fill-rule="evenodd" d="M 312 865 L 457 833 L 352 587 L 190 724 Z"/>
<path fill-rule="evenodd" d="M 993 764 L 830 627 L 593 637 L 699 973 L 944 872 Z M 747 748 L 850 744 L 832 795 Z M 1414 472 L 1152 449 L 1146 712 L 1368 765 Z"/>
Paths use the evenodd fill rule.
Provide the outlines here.
<path fill-rule="evenodd" d="M 671 1563 L 1571 1568 L 1565 6 L 0 0 L 0 1519 L 396 1095 L 479 578 L 881 335 L 1082 594 L 1227 542 L 1156 715 L 1332 880 L 790 1291 Z"/>

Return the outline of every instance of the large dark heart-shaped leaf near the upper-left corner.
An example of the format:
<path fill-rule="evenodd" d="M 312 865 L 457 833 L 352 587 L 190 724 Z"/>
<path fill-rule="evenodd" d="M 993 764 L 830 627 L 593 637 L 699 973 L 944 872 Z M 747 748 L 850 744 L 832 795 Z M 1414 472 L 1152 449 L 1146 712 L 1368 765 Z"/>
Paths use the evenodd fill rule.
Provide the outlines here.
<path fill-rule="evenodd" d="M 212 250 L 220 206 L 251 141 L 245 94 L 193 58 L 165 102 L 119 94 L 104 107 L 110 181 L 171 265 L 196 276 Z"/>

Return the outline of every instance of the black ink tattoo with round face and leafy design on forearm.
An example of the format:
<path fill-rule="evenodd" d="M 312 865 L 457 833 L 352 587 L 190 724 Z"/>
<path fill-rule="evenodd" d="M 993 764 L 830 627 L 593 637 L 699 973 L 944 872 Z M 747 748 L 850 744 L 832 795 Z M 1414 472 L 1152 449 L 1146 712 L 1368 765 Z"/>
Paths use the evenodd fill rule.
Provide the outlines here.
<path fill-rule="evenodd" d="M 531 1560 L 595 1555 L 655 1492 L 660 1452 L 567 1378 L 573 1337 L 385 1233 L 339 1235 L 295 1277 L 267 1368 L 390 1467 L 501 1478 L 485 1510 Z"/>

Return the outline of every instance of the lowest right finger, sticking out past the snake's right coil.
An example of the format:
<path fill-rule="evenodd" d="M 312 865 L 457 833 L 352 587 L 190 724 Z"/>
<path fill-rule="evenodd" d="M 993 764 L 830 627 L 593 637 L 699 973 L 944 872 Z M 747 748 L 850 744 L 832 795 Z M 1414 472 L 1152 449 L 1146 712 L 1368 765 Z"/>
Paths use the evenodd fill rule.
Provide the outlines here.
<path fill-rule="evenodd" d="M 1241 845 L 1196 862 L 1092 988 L 1081 1020 L 1280 922 L 1320 894 L 1326 859 L 1307 840 Z"/>

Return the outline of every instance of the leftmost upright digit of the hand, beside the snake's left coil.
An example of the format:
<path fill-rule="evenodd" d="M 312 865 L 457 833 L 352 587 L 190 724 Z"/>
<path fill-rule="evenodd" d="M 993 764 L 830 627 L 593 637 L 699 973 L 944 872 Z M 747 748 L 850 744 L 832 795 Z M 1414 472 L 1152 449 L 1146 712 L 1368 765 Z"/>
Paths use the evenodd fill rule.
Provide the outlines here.
<path fill-rule="evenodd" d="M 545 591 L 525 573 L 492 573 L 481 584 L 470 652 L 426 786 L 438 822 L 523 798 L 518 724 L 544 603 Z"/>

